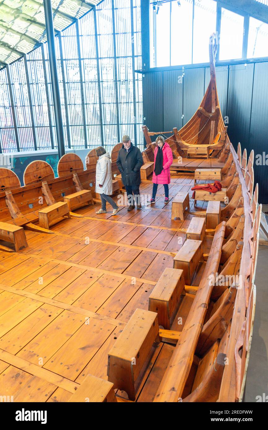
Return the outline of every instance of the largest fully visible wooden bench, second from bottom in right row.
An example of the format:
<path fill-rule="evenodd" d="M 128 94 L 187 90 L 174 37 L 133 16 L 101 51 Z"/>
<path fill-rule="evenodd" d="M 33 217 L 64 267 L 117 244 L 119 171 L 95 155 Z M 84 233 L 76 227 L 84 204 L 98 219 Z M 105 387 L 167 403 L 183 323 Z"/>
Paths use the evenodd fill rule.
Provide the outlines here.
<path fill-rule="evenodd" d="M 108 353 L 108 381 L 135 400 L 140 374 L 154 342 L 159 342 L 157 313 L 136 309 Z"/>

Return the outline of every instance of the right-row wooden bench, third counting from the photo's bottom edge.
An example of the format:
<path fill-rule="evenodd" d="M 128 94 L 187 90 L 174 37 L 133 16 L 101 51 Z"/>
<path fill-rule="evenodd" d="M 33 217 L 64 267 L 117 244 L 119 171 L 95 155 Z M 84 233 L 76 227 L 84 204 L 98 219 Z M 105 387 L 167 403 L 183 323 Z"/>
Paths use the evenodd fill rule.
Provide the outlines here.
<path fill-rule="evenodd" d="M 183 270 L 166 267 L 149 296 L 148 309 L 157 312 L 158 324 L 170 329 L 184 291 Z"/>

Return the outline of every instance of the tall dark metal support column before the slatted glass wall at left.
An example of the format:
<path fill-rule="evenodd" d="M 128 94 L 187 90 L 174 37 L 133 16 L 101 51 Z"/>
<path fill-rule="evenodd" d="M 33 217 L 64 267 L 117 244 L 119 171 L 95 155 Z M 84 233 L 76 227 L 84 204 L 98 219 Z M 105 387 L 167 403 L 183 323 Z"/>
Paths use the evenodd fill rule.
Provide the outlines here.
<path fill-rule="evenodd" d="M 52 95 L 53 95 L 53 102 L 54 102 L 55 126 L 56 126 L 57 140 L 58 140 L 59 158 L 61 158 L 65 154 L 65 147 L 64 147 L 62 110 L 61 110 L 61 100 L 60 100 L 60 93 L 59 93 L 59 79 L 58 79 L 58 72 L 57 72 L 55 35 L 54 35 L 51 0 L 43 0 L 43 4 L 44 4 L 44 12 L 45 12 L 45 20 L 46 20 L 46 35 L 47 35 L 47 44 L 48 44 L 48 52 L 49 52 L 49 67 L 50 67 L 50 75 L 51 75 Z"/>

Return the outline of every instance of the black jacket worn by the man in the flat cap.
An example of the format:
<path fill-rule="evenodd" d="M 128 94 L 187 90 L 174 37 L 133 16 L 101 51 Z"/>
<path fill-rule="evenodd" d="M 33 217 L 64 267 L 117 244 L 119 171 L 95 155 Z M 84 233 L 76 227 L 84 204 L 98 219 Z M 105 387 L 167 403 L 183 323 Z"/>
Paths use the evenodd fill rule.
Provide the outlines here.
<path fill-rule="evenodd" d="M 124 185 L 139 185 L 141 183 L 141 167 L 143 165 L 142 153 L 138 147 L 132 143 L 128 152 L 124 145 L 120 149 L 117 157 L 117 167 L 122 175 Z"/>

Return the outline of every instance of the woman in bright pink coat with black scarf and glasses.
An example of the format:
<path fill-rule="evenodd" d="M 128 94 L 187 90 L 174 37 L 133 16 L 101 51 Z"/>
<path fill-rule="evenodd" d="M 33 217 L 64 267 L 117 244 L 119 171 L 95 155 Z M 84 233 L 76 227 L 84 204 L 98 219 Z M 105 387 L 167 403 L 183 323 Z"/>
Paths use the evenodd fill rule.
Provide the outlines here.
<path fill-rule="evenodd" d="M 153 173 L 153 195 L 151 203 L 155 203 L 155 196 L 158 184 L 164 186 L 165 203 L 169 203 L 169 186 L 170 184 L 170 165 L 173 163 L 173 154 L 168 143 L 163 136 L 156 139 L 156 148 L 154 150 L 154 173 Z"/>

